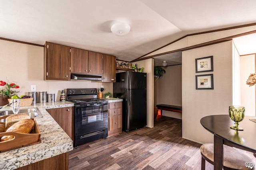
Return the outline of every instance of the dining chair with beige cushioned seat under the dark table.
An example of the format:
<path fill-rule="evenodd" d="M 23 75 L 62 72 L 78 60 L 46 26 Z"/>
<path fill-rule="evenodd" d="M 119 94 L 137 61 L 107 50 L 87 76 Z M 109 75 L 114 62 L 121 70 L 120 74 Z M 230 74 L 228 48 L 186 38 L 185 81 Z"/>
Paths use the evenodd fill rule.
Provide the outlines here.
<path fill-rule="evenodd" d="M 246 162 L 255 165 L 255 157 L 252 153 L 245 150 L 229 147 L 223 145 L 223 166 L 224 170 L 254 170 L 253 168 L 246 167 Z M 205 160 L 210 164 L 214 164 L 214 144 L 206 143 L 200 147 L 202 163 L 201 170 L 205 170 Z"/>

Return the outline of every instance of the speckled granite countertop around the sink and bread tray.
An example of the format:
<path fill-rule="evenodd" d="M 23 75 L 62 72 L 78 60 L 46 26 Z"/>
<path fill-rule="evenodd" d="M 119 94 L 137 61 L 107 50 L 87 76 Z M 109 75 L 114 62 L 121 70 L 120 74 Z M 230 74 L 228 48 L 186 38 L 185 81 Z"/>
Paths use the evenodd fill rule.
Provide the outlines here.
<path fill-rule="evenodd" d="M 12 170 L 73 149 L 73 142 L 50 116 L 46 109 L 72 107 L 71 102 L 38 103 L 22 108 L 38 107 L 43 117 L 36 118 L 41 132 L 41 143 L 0 153 L 0 170 Z M 8 106 L 0 111 L 11 110 Z"/>

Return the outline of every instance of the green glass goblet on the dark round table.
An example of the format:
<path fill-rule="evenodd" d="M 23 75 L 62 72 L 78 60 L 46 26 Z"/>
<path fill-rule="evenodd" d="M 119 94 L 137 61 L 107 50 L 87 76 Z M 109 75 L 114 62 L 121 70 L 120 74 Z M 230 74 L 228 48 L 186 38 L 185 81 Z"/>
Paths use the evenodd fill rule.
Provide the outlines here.
<path fill-rule="evenodd" d="M 238 127 L 238 122 L 244 119 L 244 106 L 229 106 L 229 117 L 234 121 L 235 126 L 230 126 L 231 129 L 242 131 L 242 127 Z"/>

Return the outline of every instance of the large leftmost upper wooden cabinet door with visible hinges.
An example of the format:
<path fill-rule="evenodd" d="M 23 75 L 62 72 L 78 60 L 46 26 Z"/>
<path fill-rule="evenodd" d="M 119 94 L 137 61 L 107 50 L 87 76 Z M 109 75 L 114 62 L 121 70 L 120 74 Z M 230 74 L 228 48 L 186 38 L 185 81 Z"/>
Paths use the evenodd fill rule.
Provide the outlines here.
<path fill-rule="evenodd" d="M 70 47 L 46 42 L 45 79 L 70 80 Z"/>

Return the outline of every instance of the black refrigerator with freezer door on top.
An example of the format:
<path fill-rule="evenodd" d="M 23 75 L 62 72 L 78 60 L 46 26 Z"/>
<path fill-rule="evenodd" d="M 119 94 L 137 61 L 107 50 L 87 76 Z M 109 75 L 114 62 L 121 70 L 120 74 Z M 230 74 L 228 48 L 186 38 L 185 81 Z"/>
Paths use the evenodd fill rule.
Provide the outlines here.
<path fill-rule="evenodd" d="M 122 98 L 122 130 L 131 131 L 147 125 L 147 73 L 116 73 L 114 97 Z"/>

